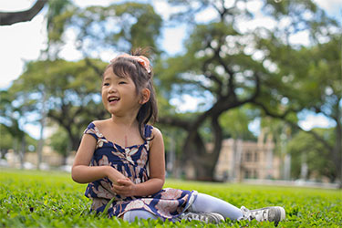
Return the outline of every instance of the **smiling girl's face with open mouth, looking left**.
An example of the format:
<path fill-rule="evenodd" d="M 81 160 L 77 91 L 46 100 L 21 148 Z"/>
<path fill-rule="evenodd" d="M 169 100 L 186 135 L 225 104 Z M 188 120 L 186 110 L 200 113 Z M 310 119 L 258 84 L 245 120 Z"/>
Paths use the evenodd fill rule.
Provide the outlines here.
<path fill-rule="evenodd" d="M 110 114 L 118 117 L 137 116 L 140 109 L 140 96 L 130 77 L 119 78 L 109 67 L 102 81 L 102 102 Z"/>

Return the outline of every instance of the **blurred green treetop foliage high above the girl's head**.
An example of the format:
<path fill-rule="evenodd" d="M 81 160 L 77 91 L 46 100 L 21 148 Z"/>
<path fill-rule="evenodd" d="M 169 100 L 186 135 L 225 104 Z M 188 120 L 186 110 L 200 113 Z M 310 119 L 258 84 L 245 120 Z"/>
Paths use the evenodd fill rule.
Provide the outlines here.
<path fill-rule="evenodd" d="M 135 47 L 152 47 L 159 52 L 156 40 L 161 33 L 162 20 L 151 5 L 129 2 L 89 6 L 69 10 L 56 20 L 65 27 L 60 32 L 67 28 L 76 31 L 78 48 L 86 57 L 94 53 L 99 56 L 109 49 L 129 52 Z"/>

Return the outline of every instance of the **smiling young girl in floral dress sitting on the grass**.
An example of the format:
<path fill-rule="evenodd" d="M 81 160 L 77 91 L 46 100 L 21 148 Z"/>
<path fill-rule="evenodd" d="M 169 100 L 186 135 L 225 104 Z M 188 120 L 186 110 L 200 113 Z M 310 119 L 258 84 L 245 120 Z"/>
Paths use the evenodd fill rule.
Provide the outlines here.
<path fill-rule="evenodd" d="M 249 211 L 196 191 L 162 189 L 165 181 L 161 131 L 148 125 L 158 109 L 152 68 L 141 49 L 111 60 L 102 78 L 102 102 L 110 119 L 88 125 L 72 167 L 72 179 L 88 183 L 91 210 L 125 221 L 157 219 L 271 221 L 285 219 L 282 207 Z"/>

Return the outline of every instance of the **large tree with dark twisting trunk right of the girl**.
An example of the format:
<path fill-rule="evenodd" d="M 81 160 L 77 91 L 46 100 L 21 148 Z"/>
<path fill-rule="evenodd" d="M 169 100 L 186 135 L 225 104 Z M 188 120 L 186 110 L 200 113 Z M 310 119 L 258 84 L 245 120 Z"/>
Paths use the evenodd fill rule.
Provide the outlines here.
<path fill-rule="evenodd" d="M 321 100 L 311 96 L 323 90 L 309 86 L 317 81 L 312 81 L 305 70 L 307 58 L 311 58 L 307 50 L 333 39 L 337 23 L 310 1 L 260 1 L 264 4 L 260 11 L 273 26 L 248 24 L 256 13 L 246 1 L 232 1 L 232 5 L 214 0 L 170 2 L 184 6 L 180 8 L 186 10 L 176 17 L 187 17 L 192 33 L 185 54 L 169 58 L 158 69 L 158 76 L 169 81 L 164 89 L 173 94 L 171 98 L 191 94 L 207 103 L 192 118 L 165 115 L 161 122 L 187 131 L 183 146 L 186 159 L 192 161 L 198 179 L 212 180 L 223 140 L 218 119 L 225 111 L 251 103 L 268 110 L 267 115 L 293 120 L 297 112 Z M 208 9 L 215 12 L 212 20 L 196 23 L 196 16 Z M 290 42 L 298 32 L 305 32 L 313 40 L 312 47 Z M 292 67 L 295 74 L 289 74 Z M 207 150 L 201 134 L 203 123 L 208 121 L 212 126 L 212 150 Z"/>

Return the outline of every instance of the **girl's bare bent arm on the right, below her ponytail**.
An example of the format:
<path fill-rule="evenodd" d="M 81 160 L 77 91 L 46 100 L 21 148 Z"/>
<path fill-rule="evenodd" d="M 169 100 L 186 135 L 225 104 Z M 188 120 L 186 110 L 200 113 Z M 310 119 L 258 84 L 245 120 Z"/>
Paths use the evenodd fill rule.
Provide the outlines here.
<path fill-rule="evenodd" d="M 130 180 L 119 180 L 113 190 L 123 196 L 146 196 L 161 191 L 165 181 L 164 142 L 161 131 L 153 128 L 153 140 L 150 141 L 150 179 L 134 184 Z"/>

